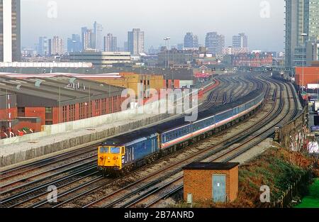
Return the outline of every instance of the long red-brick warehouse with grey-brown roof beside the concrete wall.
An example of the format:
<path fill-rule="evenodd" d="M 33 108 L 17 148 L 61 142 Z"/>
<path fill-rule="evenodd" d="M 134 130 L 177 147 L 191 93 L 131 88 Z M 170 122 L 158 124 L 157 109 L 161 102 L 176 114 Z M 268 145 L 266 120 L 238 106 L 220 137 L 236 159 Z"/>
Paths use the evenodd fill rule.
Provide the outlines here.
<path fill-rule="evenodd" d="M 0 82 L 1 133 L 8 132 L 9 113 L 13 133 L 17 134 L 16 131 L 24 127 L 40 131 L 39 126 L 43 125 L 118 112 L 125 99 L 121 97 L 122 87 L 74 77 L 0 77 Z"/>

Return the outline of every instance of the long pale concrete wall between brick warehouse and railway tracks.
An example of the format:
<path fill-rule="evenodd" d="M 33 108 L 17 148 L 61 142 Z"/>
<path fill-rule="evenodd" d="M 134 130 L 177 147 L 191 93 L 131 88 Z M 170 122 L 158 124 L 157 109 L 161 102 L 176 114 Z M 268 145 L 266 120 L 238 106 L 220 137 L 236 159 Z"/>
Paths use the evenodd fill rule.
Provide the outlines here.
<path fill-rule="evenodd" d="M 79 121 L 44 126 L 44 131 L 40 133 L 33 133 L 29 135 L 23 135 L 21 137 L 0 140 L 0 152 L 2 151 L 0 167 L 6 167 L 18 162 L 48 155 L 52 152 L 67 150 L 69 148 L 81 148 L 87 145 L 94 145 L 114 135 L 127 133 L 128 131 L 133 131 L 137 128 L 142 128 L 147 125 L 157 123 L 158 121 L 162 121 L 165 118 L 169 118 L 174 115 L 169 114 L 171 112 L 159 114 L 157 108 L 162 106 L 164 101 L 165 100 L 162 99 L 136 109 L 111 113 L 105 116 L 97 116 Z M 170 106 L 168 109 L 174 109 L 174 106 Z M 155 112 L 152 113 L 150 111 Z M 136 118 L 137 113 L 149 113 L 151 115 L 145 115 L 142 118 Z M 121 121 L 121 123 L 116 123 L 116 121 Z M 94 131 L 85 131 L 86 129 L 92 128 Z M 81 133 L 83 130 L 85 133 Z M 47 145 L 38 145 L 38 147 L 28 149 L 28 142 L 30 141 L 37 141 L 44 137 L 61 135 L 61 133 L 72 133 L 74 131 L 80 132 L 78 136 L 74 136 L 74 138 L 63 137 L 57 142 Z M 24 145 L 25 147 L 21 147 L 23 148 L 21 150 L 18 148 L 13 148 L 13 150 L 11 150 L 10 148 L 3 147 L 4 145 L 14 145 L 15 143 L 21 143 L 21 146 Z M 20 144 L 16 144 L 16 147 L 18 147 L 18 145 Z"/>

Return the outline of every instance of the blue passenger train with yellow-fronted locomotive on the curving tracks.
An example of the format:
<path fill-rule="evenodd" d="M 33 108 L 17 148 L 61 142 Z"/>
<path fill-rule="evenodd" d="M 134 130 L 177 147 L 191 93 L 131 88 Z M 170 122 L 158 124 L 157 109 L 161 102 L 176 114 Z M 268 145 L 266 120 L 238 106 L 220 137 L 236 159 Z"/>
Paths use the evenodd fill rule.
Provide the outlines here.
<path fill-rule="evenodd" d="M 198 113 L 198 120 L 185 122 L 184 117 L 157 126 L 118 135 L 98 147 L 98 170 L 103 176 L 119 175 L 155 162 L 160 157 L 185 148 L 213 135 L 230 123 L 252 113 L 264 101 L 262 91 L 252 91 L 230 104 L 211 107 Z"/>

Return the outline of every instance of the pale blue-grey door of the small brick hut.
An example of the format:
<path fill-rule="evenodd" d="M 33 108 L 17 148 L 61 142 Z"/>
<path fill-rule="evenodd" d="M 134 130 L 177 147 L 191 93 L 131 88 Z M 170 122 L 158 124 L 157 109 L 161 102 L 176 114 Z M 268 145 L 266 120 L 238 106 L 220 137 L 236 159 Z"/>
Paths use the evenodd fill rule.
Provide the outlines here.
<path fill-rule="evenodd" d="M 213 174 L 213 202 L 226 201 L 226 175 Z"/>

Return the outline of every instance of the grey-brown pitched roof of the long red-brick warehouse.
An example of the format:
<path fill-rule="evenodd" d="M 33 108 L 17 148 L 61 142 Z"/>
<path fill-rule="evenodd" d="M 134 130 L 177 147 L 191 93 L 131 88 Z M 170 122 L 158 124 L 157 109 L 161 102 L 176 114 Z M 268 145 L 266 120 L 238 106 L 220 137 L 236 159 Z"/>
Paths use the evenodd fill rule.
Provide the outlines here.
<path fill-rule="evenodd" d="M 94 100 L 121 95 L 123 88 L 65 76 L 27 79 L 0 77 L 0 94 L 6 91 L 26 96 L 29 104 L 36 104 L 36 98 L 42 98 L 47 101 L 45 104 L 53 101 L 66 105 L 88 101 L 90 96 Z"/>

